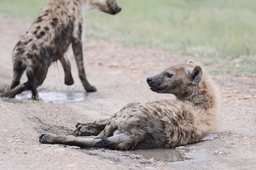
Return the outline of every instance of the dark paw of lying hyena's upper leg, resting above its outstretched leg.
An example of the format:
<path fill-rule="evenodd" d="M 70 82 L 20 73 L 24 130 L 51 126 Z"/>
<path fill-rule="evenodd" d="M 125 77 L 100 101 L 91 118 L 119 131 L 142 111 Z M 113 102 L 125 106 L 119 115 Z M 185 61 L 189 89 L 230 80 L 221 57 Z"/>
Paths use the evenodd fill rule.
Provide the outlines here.
<path fill-rule="evenodd" d="M 74 131 L 75 136 L 96 136 L 96 135 L 99 135 L 100 132 L 102 131 L 97 126 L 90 123 L 88 124 L 78 123 L 77 125 L 75 125 L 75 128 L 76 128 Z"/>

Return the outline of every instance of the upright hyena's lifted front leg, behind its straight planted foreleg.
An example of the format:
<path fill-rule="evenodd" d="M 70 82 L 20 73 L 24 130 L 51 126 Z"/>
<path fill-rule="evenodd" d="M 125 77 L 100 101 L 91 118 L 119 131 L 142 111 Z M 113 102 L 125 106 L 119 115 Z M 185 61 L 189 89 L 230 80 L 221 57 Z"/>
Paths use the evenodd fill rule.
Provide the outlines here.
<path fill-rule="evenodd" d="M 65 55 L 63 57 L 60 57 L 60 63 L 65 73 L 65 84 L 68 86 L 74 84 L 74 80 L 71 74 L 70 62 L 68 61 L 68 58 Z"/>

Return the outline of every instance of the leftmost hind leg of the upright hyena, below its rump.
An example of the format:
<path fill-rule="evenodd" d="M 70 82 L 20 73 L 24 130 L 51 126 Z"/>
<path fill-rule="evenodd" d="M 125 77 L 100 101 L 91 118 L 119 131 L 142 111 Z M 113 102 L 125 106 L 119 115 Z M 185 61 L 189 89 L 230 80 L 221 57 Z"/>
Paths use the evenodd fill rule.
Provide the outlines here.
<path fill-rule="evenodd" d="M 23 66 L 22 62 L 19 60 L 14 60 L 14 77 L 11 82 L 11 89 L 14 89 L 14 87 L 18 86 L 20 84 L 20 79 L 25 71 L 26 67 Z"/>

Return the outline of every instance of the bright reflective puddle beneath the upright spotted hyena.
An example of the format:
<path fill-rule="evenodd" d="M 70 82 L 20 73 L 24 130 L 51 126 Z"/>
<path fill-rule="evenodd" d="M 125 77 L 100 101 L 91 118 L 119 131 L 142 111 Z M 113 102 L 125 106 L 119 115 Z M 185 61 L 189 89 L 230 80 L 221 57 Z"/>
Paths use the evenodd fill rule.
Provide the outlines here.
<path fill-rule="evenodd" d="M 40 91 L 40 98 L 48 103 L 72 103 L 85 100 L 87 94 L 85 92 L 75 91 Z M 15 96 L 18 100 L 31 98 L 31 91 L 23 91 Z"/>

